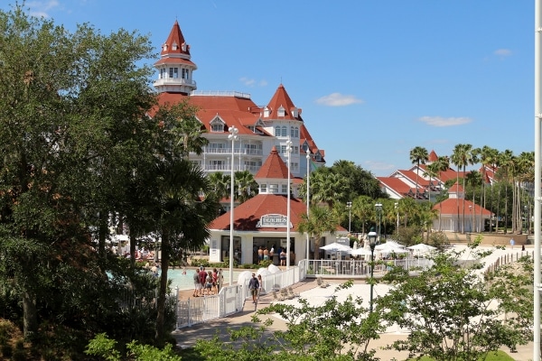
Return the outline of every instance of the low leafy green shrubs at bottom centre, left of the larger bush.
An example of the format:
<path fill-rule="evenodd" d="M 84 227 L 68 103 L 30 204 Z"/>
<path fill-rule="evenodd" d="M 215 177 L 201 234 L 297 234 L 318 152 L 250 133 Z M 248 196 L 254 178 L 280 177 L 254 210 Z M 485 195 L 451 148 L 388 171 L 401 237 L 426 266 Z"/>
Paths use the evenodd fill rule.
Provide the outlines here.
<path fill-rule="evenodd" d="M 230 329 L 232 343 L 222 343 L 217 336 L 198 341 L 195 349 L 205 360 L 378 360 L 369 342 L 384 329 L 378 314 L 360 307 L 359 297 L 339 302 L 332 296 L 317 306 L 304 299 L 299 302 L 299 307 L 274 304 L 258 310 L 253 321 L 260 325 Z M 267 328 L 273 320 L 260 319 L 274 312 L 285 319 L 285 331 L 270 332 Z"/>

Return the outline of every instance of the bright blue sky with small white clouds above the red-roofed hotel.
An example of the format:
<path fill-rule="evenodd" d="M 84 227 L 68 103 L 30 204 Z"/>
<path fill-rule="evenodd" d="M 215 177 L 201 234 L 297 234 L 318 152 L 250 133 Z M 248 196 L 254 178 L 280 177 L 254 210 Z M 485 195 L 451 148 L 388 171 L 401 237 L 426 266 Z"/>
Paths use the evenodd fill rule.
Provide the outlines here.
<path fill-rule="evenodd" d="M 14 1 L 7 2 L 14 4 Z M 4 2 L 3 2 L 4 3 Z M 534 150 L 532 0 L 43 0 L 33 14 L 149 34 L 175 20 L 198 90 L 266 105 L 284 84 L 328 165 L 386 176 L 457 143 Z M 0 5 L 6 10 L 9 5 Z"/>

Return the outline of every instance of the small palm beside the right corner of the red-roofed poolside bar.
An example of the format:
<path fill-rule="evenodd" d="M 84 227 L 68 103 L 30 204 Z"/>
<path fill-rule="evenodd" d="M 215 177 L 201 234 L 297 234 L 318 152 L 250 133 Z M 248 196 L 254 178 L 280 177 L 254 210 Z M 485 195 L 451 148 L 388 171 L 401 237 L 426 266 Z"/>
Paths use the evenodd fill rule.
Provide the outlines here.
<path fill-rule="evenodd" d="M 310 217 L 306 213 L 301 215 L 301 221 L 297 224 L 297 231 L 307 233 L 314 238 L 314 259 L 320 259 L 320 242 L 322 235 L 333 235 L 338 222 L 332 209 L 327 206 L 313 206 L 310 208 Z"/>

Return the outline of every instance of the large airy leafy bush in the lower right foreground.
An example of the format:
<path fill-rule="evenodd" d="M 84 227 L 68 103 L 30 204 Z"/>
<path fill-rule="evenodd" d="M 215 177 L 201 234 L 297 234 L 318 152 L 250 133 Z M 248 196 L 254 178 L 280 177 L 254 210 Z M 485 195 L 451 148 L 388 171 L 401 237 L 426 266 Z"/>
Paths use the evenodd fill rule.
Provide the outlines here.
<path fill-rule="evenodd" d="M 532 301 L 529 306 L 526 294 L 532 273 L 504 268 L 487 282 L 481 264 L 461 266 L 459 255 L 440 254 L 433 261 L 416 277 L 396 268 L 384 278 L 395 287 L 378 299 L 378 310 L 388 324 L 409 331 L 391 347 L 410 356 L 476 361 L 502 346 L 513 350 L 528 342 Z"/>

